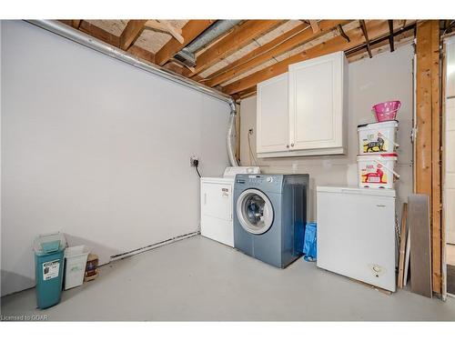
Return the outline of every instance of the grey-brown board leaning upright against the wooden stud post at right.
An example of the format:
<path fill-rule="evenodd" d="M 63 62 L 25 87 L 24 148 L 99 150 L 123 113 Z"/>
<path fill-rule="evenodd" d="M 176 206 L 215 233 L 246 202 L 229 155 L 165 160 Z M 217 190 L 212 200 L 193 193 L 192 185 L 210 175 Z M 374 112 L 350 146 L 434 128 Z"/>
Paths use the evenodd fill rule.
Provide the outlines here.
<path fill-rule="evenodd" d="M 411 290 L 431 297 L 430 196 L 410 195 L 408 205 Z"/>

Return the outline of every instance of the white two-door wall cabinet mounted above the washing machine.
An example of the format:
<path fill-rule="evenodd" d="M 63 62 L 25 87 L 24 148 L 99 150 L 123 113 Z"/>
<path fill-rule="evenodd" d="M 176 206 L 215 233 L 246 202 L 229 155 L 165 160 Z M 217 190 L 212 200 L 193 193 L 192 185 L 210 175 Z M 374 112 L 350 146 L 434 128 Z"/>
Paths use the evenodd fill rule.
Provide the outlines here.
<path fill-rule="evenodd" d="M 289 65 L 258 85 L 258 156 L 345 154 L 347 105 L 343 52 Z"/>

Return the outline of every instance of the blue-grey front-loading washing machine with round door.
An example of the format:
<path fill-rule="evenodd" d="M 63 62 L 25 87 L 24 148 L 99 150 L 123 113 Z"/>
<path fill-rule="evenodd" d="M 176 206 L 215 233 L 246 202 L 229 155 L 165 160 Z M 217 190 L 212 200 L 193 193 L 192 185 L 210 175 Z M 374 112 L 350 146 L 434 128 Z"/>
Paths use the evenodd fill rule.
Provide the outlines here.
<path fill-rule="evenodd" d="M 302 256 L 309 176 L 238 174 L 234 247 L 284 268 Z"/>

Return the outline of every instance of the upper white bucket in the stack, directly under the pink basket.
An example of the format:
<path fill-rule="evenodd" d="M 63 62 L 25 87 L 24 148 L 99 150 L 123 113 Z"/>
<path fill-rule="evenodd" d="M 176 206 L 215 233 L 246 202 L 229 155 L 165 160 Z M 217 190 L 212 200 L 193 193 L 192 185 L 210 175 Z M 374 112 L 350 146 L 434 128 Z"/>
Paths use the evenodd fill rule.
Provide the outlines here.
<path fill-rule="evenodd" d="M 394 153 L 399 145 L 396 142 L 398 121 L 387 121 L 359 125 L 359 154 Z"/>

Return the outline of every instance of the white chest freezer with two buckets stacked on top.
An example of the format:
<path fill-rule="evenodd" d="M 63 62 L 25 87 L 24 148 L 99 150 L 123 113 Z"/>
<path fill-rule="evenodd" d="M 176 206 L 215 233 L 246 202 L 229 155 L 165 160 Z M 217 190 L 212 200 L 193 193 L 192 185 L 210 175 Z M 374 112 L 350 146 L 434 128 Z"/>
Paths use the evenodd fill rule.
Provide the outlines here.
<path fill-rule="evenodd" d="M 395 191 L 318 186 L 320 268 L 396 290 Z"/>

